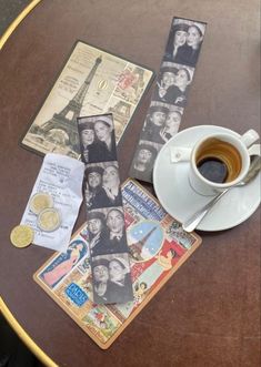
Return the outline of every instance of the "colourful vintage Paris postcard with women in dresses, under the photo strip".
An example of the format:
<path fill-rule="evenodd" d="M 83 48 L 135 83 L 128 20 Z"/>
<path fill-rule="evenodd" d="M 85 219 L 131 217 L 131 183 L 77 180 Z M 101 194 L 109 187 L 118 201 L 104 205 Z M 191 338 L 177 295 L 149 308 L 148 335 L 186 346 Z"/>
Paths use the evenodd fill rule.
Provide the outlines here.
<path fill-rule="evenodd" d="M 123 183 L 122 200 L 134 294 L 132 302 L 114 305 L 93 303 L 86 224 L 73 236 L 68 258 L 54 254 L 33 276 L 102 349 L 117 339 L 201 244 L 198 235 L 185 233 L 181 224 L 135 181 Z M 80 244 L 82 246 L 79 247 Z M 71 259 L 72 256 L 76 259 Z M 106 272 L 108 264 L 101 265 Z"/>

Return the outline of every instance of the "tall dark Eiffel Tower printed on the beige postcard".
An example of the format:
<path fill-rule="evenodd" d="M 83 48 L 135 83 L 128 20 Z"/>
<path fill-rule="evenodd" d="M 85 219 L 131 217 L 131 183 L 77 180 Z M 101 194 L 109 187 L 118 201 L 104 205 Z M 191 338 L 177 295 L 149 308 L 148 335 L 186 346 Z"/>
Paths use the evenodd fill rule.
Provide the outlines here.
<path fill-rule="evenodd" d="M 91 81 L 96 74 L 97 68 L 101 63 L 101 57 L 96 59 L 89 75 L 80 86 L 76 95 L 69 101 L 69 103 L 59 113 L 54 113 L 52 119 L 46 122 L 41 126 L 41 131 L 44 136 L 48 136 L 54 129 L 62 130 L 69 137 L 68 144 L 77 152 L 80 153 L 79 135 L 77 129 L 77 118 L 79 118 L 84 98 L 91 84 Z"/>

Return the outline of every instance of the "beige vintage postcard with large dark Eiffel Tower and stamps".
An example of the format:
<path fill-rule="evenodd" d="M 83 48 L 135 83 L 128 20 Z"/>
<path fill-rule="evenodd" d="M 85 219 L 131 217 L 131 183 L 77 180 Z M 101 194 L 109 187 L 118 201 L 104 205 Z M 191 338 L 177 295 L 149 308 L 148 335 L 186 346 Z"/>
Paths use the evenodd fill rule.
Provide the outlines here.
<path fill-rule="evenodd" d="M 152 79 L 148 68 L 78 41 L 22 146 L 79 157 L 77 118 L 102 113 L 113 113 L 119 141 Z"/>

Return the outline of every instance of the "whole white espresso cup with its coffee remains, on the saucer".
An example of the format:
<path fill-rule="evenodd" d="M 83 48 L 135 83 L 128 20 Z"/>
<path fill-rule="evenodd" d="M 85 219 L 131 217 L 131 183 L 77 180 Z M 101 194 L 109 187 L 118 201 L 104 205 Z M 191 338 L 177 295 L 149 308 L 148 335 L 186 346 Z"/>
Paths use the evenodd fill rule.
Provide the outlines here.
<path fill-rule="evenodd" d="M 243 135 L 232 130 L 201 136 L 192 146 L 171 146 L 172 163 L 189 162 L 188 179 L 191 188 L 211 196 L 235 186 L 244 179 L 250 166 L 250 150 L 259 139 L 254 130 Z"/>

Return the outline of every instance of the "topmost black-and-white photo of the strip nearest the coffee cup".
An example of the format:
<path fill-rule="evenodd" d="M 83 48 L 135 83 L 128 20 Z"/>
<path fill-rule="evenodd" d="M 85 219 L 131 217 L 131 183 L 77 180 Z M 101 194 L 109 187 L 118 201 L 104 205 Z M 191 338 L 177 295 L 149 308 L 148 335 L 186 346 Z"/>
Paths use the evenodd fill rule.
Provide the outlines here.
<path fill-rule="evenodd" d="M 174 18 L 163 60 L 194 68 L 204 31 L 205 23 Z"/>

